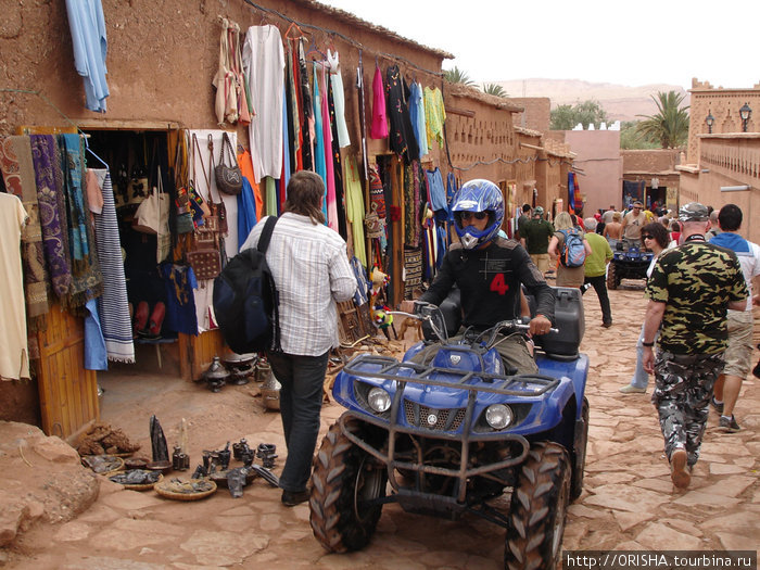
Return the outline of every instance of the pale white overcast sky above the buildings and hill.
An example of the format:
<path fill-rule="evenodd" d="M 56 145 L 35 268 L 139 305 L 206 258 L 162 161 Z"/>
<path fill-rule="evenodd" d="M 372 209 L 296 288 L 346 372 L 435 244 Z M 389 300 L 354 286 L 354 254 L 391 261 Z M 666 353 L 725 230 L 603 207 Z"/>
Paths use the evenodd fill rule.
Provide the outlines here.
<path fill-rule="evenodd" d="M 476 83 L 760 83 L 758 0 L 319 0 L 456 56 Z M 744 58 L 744 63 L 742 59 Z"/>

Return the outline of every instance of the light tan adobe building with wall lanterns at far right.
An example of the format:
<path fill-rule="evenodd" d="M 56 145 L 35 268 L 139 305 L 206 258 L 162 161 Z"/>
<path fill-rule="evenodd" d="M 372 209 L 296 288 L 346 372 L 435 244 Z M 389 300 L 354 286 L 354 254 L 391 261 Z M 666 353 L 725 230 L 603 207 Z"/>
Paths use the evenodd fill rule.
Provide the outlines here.
<path fill-rule="evenodd" d="M 738 205 L 740 233 L 760 242 L 760 83 L 725 89 L 692 79 L 688 148 L 680 173 L 681 203 Z M 744 116 L 743 116 L 744 115 Z"/>

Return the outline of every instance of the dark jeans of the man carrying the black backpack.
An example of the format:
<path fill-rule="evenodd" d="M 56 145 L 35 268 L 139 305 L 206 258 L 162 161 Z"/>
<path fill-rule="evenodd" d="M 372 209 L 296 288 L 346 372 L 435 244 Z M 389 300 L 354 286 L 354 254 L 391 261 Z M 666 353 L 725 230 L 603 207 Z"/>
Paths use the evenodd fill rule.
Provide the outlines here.
<path fill-rule="evenodd" d="M 280 476 L 280 487 L 286 491 L 304 491 L 312 474 L 328 355 L 329 352 L 321 356 L 267 354 L 271 371 L 282 384 L 280 415 L 288 458 Z"/>

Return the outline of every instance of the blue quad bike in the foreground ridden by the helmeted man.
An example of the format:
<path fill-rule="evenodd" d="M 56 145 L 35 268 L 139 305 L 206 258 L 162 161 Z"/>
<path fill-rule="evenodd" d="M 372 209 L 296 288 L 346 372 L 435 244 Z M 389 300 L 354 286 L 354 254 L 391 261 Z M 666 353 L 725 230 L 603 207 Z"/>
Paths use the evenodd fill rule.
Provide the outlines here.
<path fill-rule="evenodd" d="M 457 520 L 470 514 L 506 529 L 504 568 L 555 568 L 568 504 L 581 495 L 588 434 L 588 358 L 578 289 L 556 289 L 559 330 L 536 338 L 539 373 L 505 369 L 497 334 L 521 334 L 507 320 L 458 341 L 456 299 L 421 304 L 426 338 L 440 349 L 429 365 L 360 355 L 335 378 L 346 410 L 314 461 L 314 535 L 329 552 L 366 546 L 382 506 Z M 457 319 L 457 317 L 459 317 Z M 539 349 L 541 347 L 541 349 Z M 507 501 L 495 501 L 505 492 Z M 490 503 L 494 503 L 492 505 Z M 499 506 L 501 505 L 501 506 Z"/>

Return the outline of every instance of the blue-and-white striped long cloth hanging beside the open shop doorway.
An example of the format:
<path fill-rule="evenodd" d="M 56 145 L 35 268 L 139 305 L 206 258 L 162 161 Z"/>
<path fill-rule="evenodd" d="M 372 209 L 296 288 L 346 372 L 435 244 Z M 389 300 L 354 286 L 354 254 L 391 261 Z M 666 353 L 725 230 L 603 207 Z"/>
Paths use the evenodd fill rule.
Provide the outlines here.
<path fill-rule="evenodd" d="M 135 362 L 132 327 L 127 300 L 127 280 L 118 238 L 118 219 L 111 173 L 91 169 L 103 194 L 103 212 L 94 215 L 96 250 L 103 271 L 103 294 L 98 297 L 98 315 L 105 340 L 105 354 L 116 363 Z"/>

